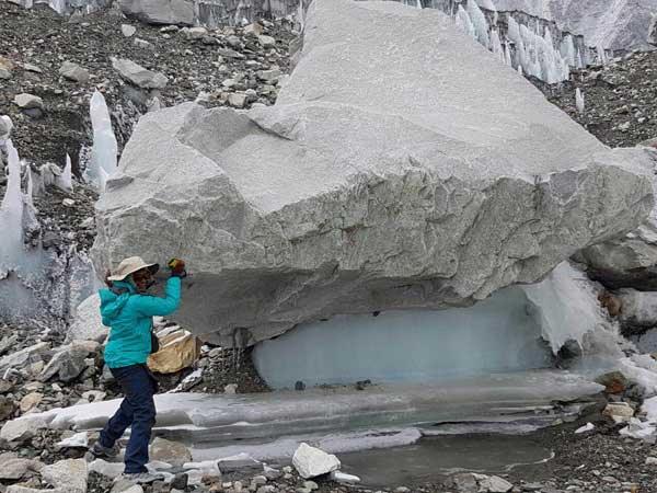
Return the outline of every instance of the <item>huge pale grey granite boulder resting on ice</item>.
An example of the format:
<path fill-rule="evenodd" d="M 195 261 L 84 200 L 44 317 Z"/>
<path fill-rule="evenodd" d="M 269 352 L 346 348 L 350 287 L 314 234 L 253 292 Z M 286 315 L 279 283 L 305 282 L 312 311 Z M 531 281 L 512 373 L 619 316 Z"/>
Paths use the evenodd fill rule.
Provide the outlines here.
<path fill-rule="evenodd" d="M 650 210 L 647 154 L 610 151 L 441 12 L 318 0 L 306 22 L 276 105 L 140 119 L 96 206 L 96 272 L 181 255 L 178 320 L 253 344 L 472 305 Z"/>

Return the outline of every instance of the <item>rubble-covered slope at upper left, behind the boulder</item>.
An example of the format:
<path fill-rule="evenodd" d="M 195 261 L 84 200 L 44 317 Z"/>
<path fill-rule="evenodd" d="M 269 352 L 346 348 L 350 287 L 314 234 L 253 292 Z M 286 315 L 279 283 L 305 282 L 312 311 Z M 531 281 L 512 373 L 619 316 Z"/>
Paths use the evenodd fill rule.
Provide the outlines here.
<path fill-rule="evenodd" d="M 232 27 L 181 31 L 130 21 L 115 10 L 65 20 L 43 4 L 24 10 L 7 0 L 0 0 L 0 114 L 15 125 L 14 145 L 25 159 L 61 168 L 69 153 L 74 170 L 81 149 L 91 145 L 94 89 L 112 108 L 120 150 L 154 98 L 161 106 L 197 99 L 210 106 L 272 104 L 296 36 L 285 21 L 263 22 L 251 34 Z M 165 76 L 165 85 L 127 82 L 113 57 Z M 65 61 L 81 71 L 62 76 Z M 14 98 L 22 93 L 41 98 L 41 104 L 21 110 Z"/>

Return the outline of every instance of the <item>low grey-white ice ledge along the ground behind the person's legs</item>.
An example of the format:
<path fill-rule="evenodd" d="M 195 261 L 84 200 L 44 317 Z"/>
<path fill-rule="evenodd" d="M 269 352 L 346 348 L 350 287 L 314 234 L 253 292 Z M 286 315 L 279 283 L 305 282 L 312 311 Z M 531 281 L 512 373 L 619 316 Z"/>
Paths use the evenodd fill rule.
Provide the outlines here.
<path fill-rule="evenodd" d="M 552 401 L 568 402 L 601 389 L 575 374 L 535 370 L 437 385 L 380 385 L 360 391 L 351 387 L 238 395 L 165 393 L 155 395 L 154 433 L 187 440 L 194 446 L 197 460 L 220 458 L 219 452 L 211 450 L 217 448 L 226 456 L 246 449 L 256 458 L 257 450 L 265 458 L 285 457 L 286 450 L 293 451 L 293 447 L 281 444 L 289 445 L 308 435 L 316 435 L 315 439 L 321 438 L 335 451 L 358 450 L 400 445 L 414 435 L 404 433 L 389 440 L 373 440 L 365 433 L 370 429 L 534 419 L 540 410 L 552 410 Z M 59 429 L 95 429 L 106 423 L 119 402 L 116 399 L 55 409 L 21 420 L 44 420 L 49 427 Z M 346 432 L 355 435 L 345 436 Z M 253 447 L 254 444 L 261 445 Z"/>

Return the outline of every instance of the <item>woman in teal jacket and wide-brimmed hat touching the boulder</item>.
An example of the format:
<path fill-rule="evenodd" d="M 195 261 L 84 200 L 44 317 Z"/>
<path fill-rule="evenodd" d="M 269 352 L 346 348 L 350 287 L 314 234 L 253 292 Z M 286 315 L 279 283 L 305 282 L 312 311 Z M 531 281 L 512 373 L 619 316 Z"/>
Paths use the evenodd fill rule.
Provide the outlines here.
<path fill-rule="evenodd" d="M 130 426 L 124 475 L 136 482 L 157 479 L 146 469 L 148 445 L 155 422 L 153 394 L 157 392 L 157 382 L 146 360 L 152 349 L 152 317 L 164 317 L 177 309 L 181 279 L 186 275 L 183 261 L 173 260 L 169 266 L 171 278 L 166 282 L 164 298 L 146 294 L 154 284 L 153 275 L 159 265 L 147 264 L 138 256 L 123 260 L 114 275 L 106 276 L 108 288 L 100 290 L 103 324 L 111 328 L 105 364 L 125 399 L 101 432 L 91 452 L 96 457 L 116 457 L 119 450 L 116 440 Z"/>

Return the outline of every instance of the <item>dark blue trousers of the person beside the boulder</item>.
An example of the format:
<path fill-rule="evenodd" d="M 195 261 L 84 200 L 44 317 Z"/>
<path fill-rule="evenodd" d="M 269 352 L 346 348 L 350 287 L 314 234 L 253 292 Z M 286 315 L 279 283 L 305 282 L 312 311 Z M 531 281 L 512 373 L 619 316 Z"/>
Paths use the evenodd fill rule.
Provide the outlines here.
<path fill-rule="evenodd" d="M 155 403 L 153 394 L 155 382 L 146 365 L 130 365 L 110 368 L 120 386 L 125 399 L 118 411 L 110 419 L 101 432 L 101 445 L 112 447 L 130 426 L 130 439 L 126 448 L 125 472 L 148 472 L 148 444 L 151 429 L 155 424 Z"/>

